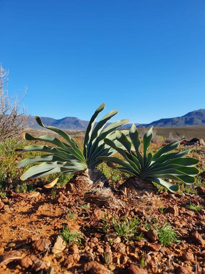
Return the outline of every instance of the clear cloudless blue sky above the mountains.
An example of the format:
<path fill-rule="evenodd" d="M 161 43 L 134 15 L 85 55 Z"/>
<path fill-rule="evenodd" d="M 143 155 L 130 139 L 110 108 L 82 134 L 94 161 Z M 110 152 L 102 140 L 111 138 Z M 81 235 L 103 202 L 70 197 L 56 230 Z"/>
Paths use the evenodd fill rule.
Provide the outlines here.
<path fill-rule="evenodd" d="M 32 115 L 101 103 L 149 123 L 205 108 L 205 1 L 0 0 L 0 62 Z"/>

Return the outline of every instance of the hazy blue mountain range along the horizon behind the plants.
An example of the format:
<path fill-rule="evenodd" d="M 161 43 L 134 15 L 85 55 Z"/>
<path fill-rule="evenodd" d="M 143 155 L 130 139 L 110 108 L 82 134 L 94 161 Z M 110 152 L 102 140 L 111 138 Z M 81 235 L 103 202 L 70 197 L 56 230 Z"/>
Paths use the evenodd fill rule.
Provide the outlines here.
<path fill-rule="evenodd" d="M 53 119 L 49 117 L 41 117 L 42 122 L 46 126 L 53 126 L 56 128 L 67 130 L 85 130 L 89 121 L 80 120 L 77 117 L 65 117 L 62 119 Z M 109 125 L 108 123 L 107 125 Z M 157 121 L 153 121 L 149 124 L 135 124 L 137 127 L 173 127 L 173 126 L 190 126 L 190 125 L 205 125 L 205 109 L 199 109 L 197 111 L 191 111 L 181 117 L 175 118 L 163 118 Z M 28 120 L 28 126 L 33 129 L 40 129 L 37 124 L 35 116 L 30 116 Z M 123 128 L 130 128 L 132 124 L 124 125 Z"/>

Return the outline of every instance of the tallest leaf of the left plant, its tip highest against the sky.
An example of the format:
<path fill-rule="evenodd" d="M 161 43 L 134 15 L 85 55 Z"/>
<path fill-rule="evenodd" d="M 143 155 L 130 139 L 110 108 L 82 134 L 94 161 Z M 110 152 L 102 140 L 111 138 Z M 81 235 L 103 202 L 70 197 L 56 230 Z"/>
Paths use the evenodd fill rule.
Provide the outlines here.
<path fill-rule="evenodd" d="M 91 120 L 87 126 L 87 130 L 85 132 L 85 139 L 84 139 L 84 149 L 83 149 L 83 155 L 85 157 L 85 159 L 87 159 L 87 144 L 90 141 L 91 138 L 91 134 L 92 134 L 92 130 L 95 124 L 95 121 L 97 119 L 98 114 L 104 110 L 105 104 L 101 104 L 95 111 L 95 113 L 93 114 L 93 116 L 91 117 Z"/>

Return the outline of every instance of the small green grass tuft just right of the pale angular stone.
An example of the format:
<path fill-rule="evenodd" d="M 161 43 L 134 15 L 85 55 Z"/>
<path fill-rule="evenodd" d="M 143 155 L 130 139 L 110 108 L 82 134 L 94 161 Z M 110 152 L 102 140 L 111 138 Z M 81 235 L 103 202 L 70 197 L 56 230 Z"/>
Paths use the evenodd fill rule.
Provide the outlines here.
<path fill-rule="evenodd" d="M 70 229 L 65 226 L 63 226 L 63 230 L 59 233 L 59 235 L 63 238 L 67 245 L 74 243 L 80 246 L 81 240 L 84 238 L 83 233 L 79 231 L 75 231 L 72 233 L 70 232 Z"/>

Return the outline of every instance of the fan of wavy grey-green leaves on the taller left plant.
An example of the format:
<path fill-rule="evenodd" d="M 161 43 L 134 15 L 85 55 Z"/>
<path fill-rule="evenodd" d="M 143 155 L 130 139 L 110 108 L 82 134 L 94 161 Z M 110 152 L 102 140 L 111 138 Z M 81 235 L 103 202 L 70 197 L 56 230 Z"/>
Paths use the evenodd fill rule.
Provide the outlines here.
<path fill-rule="evenodd" d="M 41 155 L 33 158 L 26 158 L 19 163 L 16 163 L 16 167 L 22 167 L 31 163 L 40 163 L 29 168 L 20 177 L 21 180 L 26 180 L 27 178 L 33 179 L 37 177 L 42 177 L 45 175 L 53 173 L 61 173 L 55 179 L 53 179 L 47 187 L 53 187 L 58 181 L 58 178 L 66 173 L 74 173 L 84 171 L 88 169 L 94 169 L 98 164 L 102 163 L 103 160 L 97 160 L 97 156 L 111 156 L 116 153 L 116 150 L 104 143 L 104 138 L 110 139 L 117 146 L 122 147 L 121 143 L 115 138 L 115 130 L 122 125 L 129 122 L 127 119 L 119 120 L 111 123 L 106 128 L 106 123 L 116 114 L 118 111 L 110 111 L 106 114 L 94 127 L 95 121 L 98 114 L 104 110 L 105 104 L 101 104 L 95 113 L 93 114 L 84 138 L 84 149 L 83 152 L 79 149 L 76 142 L 63 130 L 52 127 L 44 126 L 41 119 L 36 116 L 37 123 L 43 128 L 50 129 L 53 132 L 58 133 L 61 137 L 65 139 L 66 142 L 52 136 L 43 135 L 40 137 L 34 137 L 29 133 L 23 133 L 22 137 L 26 140 L 39 140 L 44 142 L 49 142 L 54 146 L 26 146 L 22 149 L 16 149 L 16 152 L 23 153 L 28 151 L 41 151 L 50 154 Z M 128 135 L 128 130 L 122 131 L 125 135 Z"/>

